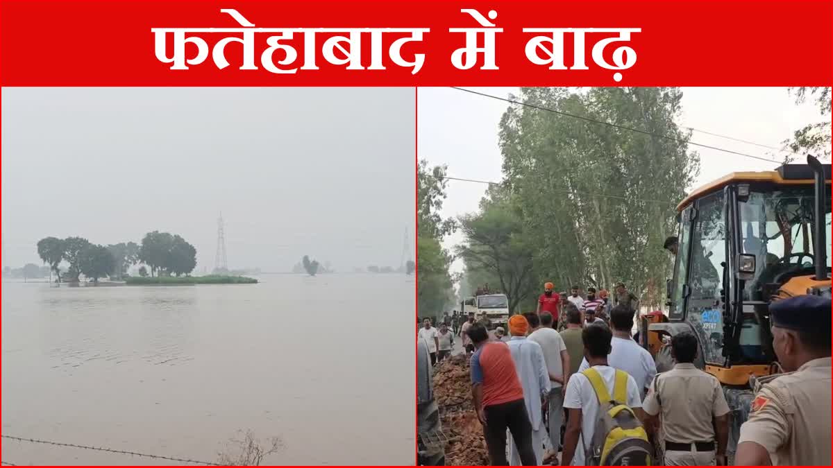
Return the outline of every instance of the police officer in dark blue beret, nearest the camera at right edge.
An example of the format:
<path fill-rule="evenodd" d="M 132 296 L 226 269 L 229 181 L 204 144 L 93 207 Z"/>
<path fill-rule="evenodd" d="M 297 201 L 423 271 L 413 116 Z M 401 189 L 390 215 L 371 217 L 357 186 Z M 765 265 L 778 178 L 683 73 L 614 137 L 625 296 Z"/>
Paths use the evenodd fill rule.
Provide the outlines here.
<path fill-rule="evenodd" d="M 736 465 L 831 464 L 831 300 L 770 305 L 772 346 L 785 376 L 767 382 L 741 426 Z"/>

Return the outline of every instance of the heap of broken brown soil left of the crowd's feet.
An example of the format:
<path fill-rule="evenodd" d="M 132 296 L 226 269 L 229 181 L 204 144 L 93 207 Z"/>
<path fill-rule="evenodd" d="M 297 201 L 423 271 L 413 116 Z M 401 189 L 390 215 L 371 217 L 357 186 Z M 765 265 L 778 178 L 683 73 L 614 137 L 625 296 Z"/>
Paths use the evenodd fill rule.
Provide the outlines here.
<path fill-rule="evenodd" d="M 436 366 L 434 397 L 441 411 L 442 431 L 449 439 L 446 465 L 489 465 L 483 426 L 471 404 L 471 377 L 465 355 L 451 356 Z"/>

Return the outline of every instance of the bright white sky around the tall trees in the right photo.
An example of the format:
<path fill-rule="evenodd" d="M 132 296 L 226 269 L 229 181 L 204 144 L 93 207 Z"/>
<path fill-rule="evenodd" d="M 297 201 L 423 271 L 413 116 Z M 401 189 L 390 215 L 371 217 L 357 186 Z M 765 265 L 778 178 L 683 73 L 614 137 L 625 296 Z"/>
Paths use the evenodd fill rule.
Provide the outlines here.
<path fill-rule="evenodd" d="M 471 87 L 500 97 L 518 94 L 519 88 Z M 783 87 L 684 87 L 683 115 L 679 123 L 706 132 L 781 147 L 781 141 L 807 123 L 823 118 L 815 105 L 796 106 Z M 447 87 L 419 88 L 419 157 L 431 165 L 447 164 L 450 177 L 500 181 L 501 152 L 498 126 L 508 104 Z M 563 117 L 570 118 L 570 117 Z M 830 117 L 826 117 L 828 120 Z M 588 124 L 591 125 L 591 124 Z M 722 147 L 736 152 L 777 158 L 778 152 L 695 132 L 692 142 Z M 700 153 L 701 185 L 733 171 L 764 171 L 777 164 L 761 162 L 703 147 L 689 147 Z M 771 153 L 776 153 L 772 155 Z M 448 182 L 448 198 L 443 217 L 476 212 L 486 185 L 471 182 Z M 447 236 L 443 244 L 451 248 L 462 241 L 460 232 Z M 456 261 L 452 269 L 461 270 Z"/>

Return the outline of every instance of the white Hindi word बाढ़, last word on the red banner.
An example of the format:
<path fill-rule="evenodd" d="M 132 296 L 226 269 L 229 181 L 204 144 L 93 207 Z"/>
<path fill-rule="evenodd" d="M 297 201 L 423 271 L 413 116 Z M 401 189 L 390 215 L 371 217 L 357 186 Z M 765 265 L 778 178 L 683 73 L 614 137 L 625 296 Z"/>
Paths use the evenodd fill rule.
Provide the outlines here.
<path fill-rule="evenodd" d="M 616 28 L 573 28 L 573 27 L 525 27 L 523 32 L 545 32 L 546 35 L 532 37 L 526 42 L 526 58 L 536 65 L 549 65 L 551 70 L 566 70 L 564 60 L 564 35 L 571 33 L 573 35 L 573 65 L 569 67 L 571 70 L 587 70 L 585 63 L 586 47 L 585 35 L 588 33 L 616 32 L 618 37 L 607 37 L 596 42 L 591 50 L 591 57 L 593 62 L 599 67 L 607 70 L 626 70 L 636 63 L 636 52 L 633 48 L 628 46 L 617 47 L 613 51 L 613 65 L 605 61 L 604 51 L 612 42 L 630 41 L 631 33 L 641 32 L 638 27 L 616 27 Z M 541 57 L 539 52 L 543 52 L 546 57 Z M 622 75 L 620 72 L 613 74 L 613 79 L 620 82 Z"/>

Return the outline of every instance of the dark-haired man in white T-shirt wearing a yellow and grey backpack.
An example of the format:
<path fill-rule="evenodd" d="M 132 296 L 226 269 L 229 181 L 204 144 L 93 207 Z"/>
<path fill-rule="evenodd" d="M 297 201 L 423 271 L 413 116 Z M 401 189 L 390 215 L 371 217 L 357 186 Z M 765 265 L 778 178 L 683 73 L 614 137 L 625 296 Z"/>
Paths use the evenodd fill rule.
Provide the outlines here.
<path fill-rule="evenodd" d="M 651 465 L 639 387 L 627 372 L 607 365 L 612 336 L 608 327 L 596 324 L 581 331 L 590 368 L 567 383 L 563 466 Z"/>

